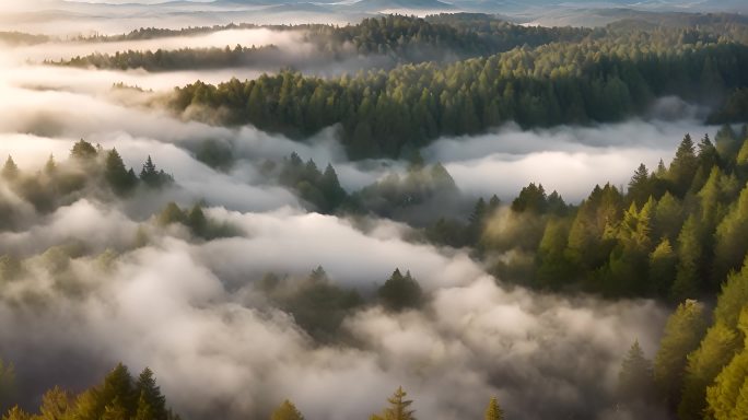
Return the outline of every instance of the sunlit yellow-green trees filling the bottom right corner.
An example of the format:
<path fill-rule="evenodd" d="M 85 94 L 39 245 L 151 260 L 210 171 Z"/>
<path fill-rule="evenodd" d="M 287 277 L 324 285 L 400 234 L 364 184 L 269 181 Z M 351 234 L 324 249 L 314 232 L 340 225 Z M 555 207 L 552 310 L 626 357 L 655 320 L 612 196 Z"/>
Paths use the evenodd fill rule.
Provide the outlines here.
<path fill-rule="evenodd" d="M 748 259 L 722 285 L 711 316 L 686 301 L 670 316 L 654 363 L 661 398 L 679 419 L 748 416 Z"/>

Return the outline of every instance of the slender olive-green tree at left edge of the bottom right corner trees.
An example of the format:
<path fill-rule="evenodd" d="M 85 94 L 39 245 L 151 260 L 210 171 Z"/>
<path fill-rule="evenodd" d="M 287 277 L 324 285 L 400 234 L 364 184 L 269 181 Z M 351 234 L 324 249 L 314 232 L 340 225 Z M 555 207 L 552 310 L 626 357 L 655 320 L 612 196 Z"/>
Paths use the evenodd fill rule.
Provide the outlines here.
<path fill-rule="evenodd" d="M 696 301 L 678 305 L 668 318 L 659 342 L 654 380 L 663 398 L 673 407 L 680 400 L 687 357 L 699 347 L 706 328 L 703 312 L 703 305 Z"/>

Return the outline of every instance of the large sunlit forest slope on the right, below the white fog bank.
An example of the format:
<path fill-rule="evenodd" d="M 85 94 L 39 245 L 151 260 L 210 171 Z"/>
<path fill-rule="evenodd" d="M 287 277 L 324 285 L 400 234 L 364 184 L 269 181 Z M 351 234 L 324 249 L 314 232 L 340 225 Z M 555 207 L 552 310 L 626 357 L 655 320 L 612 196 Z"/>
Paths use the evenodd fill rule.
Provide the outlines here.
<path fill-rule="evenodd" d="M 628 191 L 597 186 L 575 208 L 529 185 L 512 205 L 515 222 L 470 245 L 534 254 L 530 285 L 673 302 L 713 295 L 748 253 L 746 135 L 725 126 L 715 143 L 686 136 L 669 167 L 641 165 Z"/>

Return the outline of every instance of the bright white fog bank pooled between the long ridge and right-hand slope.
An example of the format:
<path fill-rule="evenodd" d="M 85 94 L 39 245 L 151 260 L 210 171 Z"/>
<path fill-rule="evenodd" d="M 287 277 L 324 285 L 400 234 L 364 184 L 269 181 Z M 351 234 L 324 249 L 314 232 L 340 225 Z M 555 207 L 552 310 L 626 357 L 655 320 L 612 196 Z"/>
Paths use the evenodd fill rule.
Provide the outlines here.
<path fill-rule="evenodd" d="M 489 135 L 441 139 L 423 155 L 444 163 L 466 192 L 511 199 L 533 182 L 578 202 L 596 184 L 628 185 L 640 163 L 650 170 L 661 159 L 669 164 L 686 133 L 713 139 L 717 129 L 692 117 L 530 131 L 509 125 Z"/>

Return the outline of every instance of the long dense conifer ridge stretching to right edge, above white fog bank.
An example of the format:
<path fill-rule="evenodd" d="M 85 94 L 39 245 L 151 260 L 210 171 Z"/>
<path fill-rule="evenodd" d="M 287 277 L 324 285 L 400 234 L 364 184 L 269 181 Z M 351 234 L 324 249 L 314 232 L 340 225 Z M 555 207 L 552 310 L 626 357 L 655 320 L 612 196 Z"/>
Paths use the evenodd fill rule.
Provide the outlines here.
<path fill-rule="evenodd" d="M 748 86 L 744 45 L 674 46 L 670 37 L 643 33 L 626 39 L 516 48 L 332 80 L 284 71 L 219 85 L 196 82 L 177 89 L 171 106 L 296 138 L 339 124 L 350 155 L 371 158 L 407 154 L 440 136 L 474 135 L 510 120 L 524 127 L 616 121 L 644 113 L 663 95 L 720 103 Z"/>

